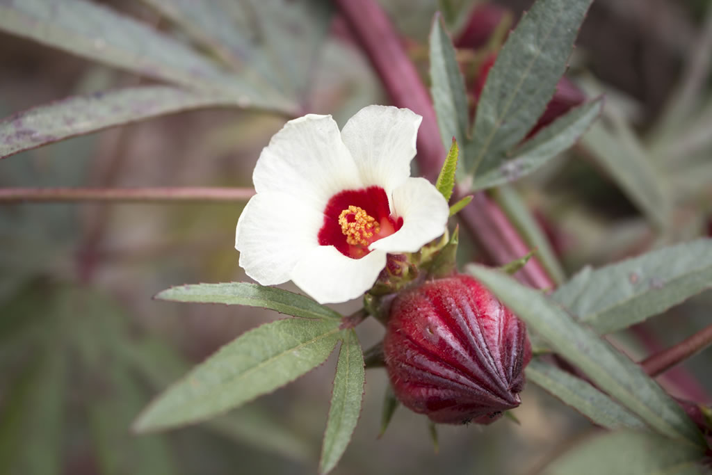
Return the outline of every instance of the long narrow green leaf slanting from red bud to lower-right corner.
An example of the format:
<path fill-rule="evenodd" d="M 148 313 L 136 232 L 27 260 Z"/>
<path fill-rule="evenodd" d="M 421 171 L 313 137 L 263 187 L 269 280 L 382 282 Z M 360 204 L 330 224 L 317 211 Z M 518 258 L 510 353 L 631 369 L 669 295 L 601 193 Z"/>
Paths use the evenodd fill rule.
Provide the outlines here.
<path fill-rule="evenodd" d="M 626 355 L 590 328 L 572 320 L 540 291 L 527 288 L 500 271 L 471 264 L 467 271 L 487 286 L 530 330 L 543 337 L 565 360 L 660 434 L 703 444 L 695 424 L 679 404 Z"/>

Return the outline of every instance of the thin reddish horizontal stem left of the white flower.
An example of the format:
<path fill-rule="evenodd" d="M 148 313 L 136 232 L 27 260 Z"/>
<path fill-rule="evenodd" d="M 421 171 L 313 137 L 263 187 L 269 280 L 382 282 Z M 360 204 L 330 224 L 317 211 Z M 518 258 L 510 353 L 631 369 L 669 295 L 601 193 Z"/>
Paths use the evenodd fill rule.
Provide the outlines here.
<path fill-rule="evenodd" d="M 234 202 L 251 188 L 0 188 L 0 204 L 19 202 Z"/>

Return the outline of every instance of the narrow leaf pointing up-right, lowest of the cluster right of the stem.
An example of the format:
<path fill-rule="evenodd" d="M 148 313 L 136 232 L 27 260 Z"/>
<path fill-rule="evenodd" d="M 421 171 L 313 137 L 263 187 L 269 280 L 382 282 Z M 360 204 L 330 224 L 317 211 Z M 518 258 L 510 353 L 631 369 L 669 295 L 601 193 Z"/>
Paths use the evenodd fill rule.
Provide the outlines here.
<path fill-rule="evenodd" d="M 580 105 L 540 130 L 518 149 L 502 155 L 499 160 L 490 160 L 487 167 L 482 166 L 478 170 L 471 189 L 497 187 L 535 172 L 574 145 L 598 118 L 602 107 L 602 99 Z M 514 158 L 508 158 L 511 155 L 514 155 Z"/>

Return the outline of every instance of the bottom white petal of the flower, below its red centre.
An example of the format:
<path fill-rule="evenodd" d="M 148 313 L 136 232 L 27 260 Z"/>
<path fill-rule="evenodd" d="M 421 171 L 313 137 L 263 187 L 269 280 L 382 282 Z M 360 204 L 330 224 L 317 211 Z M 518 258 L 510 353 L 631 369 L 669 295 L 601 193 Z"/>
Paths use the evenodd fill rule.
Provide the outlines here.
<path fill-rule="evenodd" d="M 345 302 L 370 289 L 385 266 L 381 251 L 351 259 L 334 246 L 319 246 L 297 263 L 292 281 L 319 303 Z"/>

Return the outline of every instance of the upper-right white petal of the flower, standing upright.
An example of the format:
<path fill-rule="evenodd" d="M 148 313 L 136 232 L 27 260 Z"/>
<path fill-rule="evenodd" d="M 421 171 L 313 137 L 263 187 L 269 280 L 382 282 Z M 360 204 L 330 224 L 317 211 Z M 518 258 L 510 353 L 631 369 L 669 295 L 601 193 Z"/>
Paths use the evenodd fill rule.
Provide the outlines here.
<path fill-rule="evenodd" d="M 346 122 L 341 137 L 365 185 L 380 185 L 390 195 L 410 177 L 422 120 L 409 109 L 369 105 Z"/>

